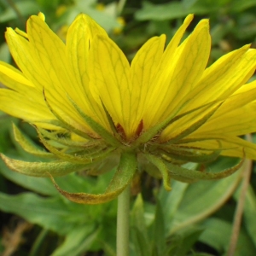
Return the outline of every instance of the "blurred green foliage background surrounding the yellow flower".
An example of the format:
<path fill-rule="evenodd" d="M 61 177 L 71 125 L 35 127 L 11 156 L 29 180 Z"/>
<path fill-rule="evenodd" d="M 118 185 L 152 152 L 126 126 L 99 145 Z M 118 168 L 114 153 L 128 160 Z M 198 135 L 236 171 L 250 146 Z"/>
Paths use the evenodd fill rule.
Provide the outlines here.
<path fill-rule="evenodd" d="M 148 38 L 165 33 L 167 42 L 186 15 L 189 26 L 209 18 L 212 54 L 209 64 L 244 44 L 256 47 L 256 0 L 0 0 L 0 60 L 12 63 L 4 39 L 6 27 L 26 30 L 30 15 L 43 12 L 49 27 L 64 41 L 76 15 L 90 15 L 131 61 Z M 84 35 L 85 36 L 85 35 Z M 36 108 L 36 106 L 35 106 Z M 255 119 L 256 121 L 256 119 Z M 0 113 L 0 151 L 15 159 L 42 160 L 23 151 L 13 139 L 12 123 L 38 144 L 36 131 L 19 119 Z M 254 140 L 254 138 L 253 138 Z M 255 140 L 254 140 L 255 141 Z M 211 171 L 234 165 L 220 158 Z M 193 168 L 193 166 L 190 166 Z M 131 255 L 226 255 L 239 199 L 242 173 L 216 182 L 161 182 L 142 177 L 131 198 Z M 256 255 L 255 168 L 247 191 L 237 256 Z M 100 193 L 111 176 L 68 175 L 56 178 L 70 192 Z M 137 191 L 142 192 L 136 195 Z M 99 206 L 77 205 L 55 190 L 49 178 L 11 172 L 0 161 L 0 254 L 28 256 L 115 255 L 116 201 Z"/>

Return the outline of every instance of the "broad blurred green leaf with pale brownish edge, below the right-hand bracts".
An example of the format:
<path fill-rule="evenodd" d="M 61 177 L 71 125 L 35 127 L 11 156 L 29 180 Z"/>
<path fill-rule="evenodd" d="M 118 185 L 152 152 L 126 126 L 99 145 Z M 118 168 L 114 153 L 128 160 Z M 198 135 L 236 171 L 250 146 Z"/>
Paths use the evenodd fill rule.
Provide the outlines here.
<path fill-rule="evenodd" d="M 236 159 L 232 158 L 222 158 L 216 161 L 214 165 L 211 165 L 212 172 L 232 166 L 236 161 Z M 173 181 L 173 191 L 171 193 L 162 189 L 160 198 L 164 200 L 162 201 L 162 206 L 163 212 L 166 213 L 165 223 L 168 234 L 172 235 L 184 227 L 207 218 L 212 212 L 216 212 L 230 198 L 240 180 L 241 171 L 238 171 L 230 177 L 225 177 L 219 181 L 201 181 L 185 187 L 180 185 L 179 182 Z M 172 207 L 174 196 L 172 193 L 175 186 L 180 189 L 182 195 L 179 195 L 177 202 L 173 202 L 174 207 Z"/>

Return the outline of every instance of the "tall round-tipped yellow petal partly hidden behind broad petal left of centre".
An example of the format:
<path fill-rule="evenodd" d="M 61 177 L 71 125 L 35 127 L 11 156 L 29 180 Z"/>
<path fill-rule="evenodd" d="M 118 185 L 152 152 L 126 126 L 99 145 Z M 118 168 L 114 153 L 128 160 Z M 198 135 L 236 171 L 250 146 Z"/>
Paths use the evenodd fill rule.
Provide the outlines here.
<path fill-rule="evenodd" d="M 96 35 L 108 37 L 107 33 L 89 16 L 81 14 L 73 21 L 67 32 L 67 65 L 75 79 L 73 90 L 76 92 L 76 104 L 84 113 L 98 123 L 109 128 L 103 109 L 91 96 L 89 87 L 88 55 L 92 39 Z M 84 36 L 86 35 L 86 36 Z"/>

